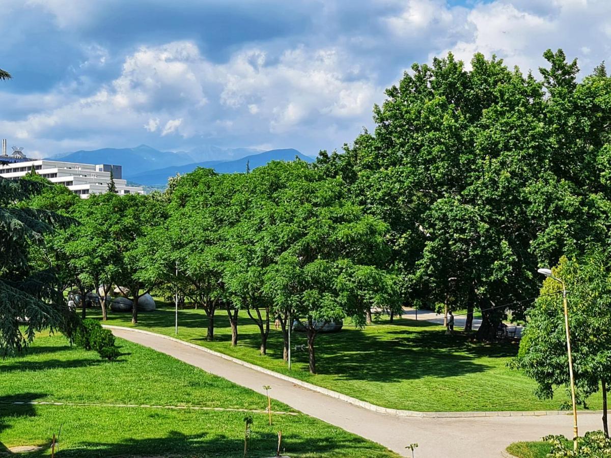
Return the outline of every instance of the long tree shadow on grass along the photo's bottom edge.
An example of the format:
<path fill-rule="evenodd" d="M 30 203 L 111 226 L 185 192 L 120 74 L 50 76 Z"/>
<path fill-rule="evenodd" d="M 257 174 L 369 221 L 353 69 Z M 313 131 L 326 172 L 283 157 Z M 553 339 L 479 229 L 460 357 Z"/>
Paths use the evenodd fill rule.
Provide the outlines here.
<path fill-rule="evenodd" d="M 254 431 L 248 443 L 248 456 L 269 457 L 276 455 L 278 437 L 270 432 Z M 335 437 L 307 438 L 283 435 L 282 449 L 285 453 L 316 453 L 319 456 L 375 456 L 377 451 L 367 447 L 362 438 L 341 439 Z M 362 451 L 362 454 L 355 454 Z M 119 443 L 81 442 L 78 448 L 62 449 L 60 457 L 144 457 L 144 456 L 192 456 L 192 457 L 238 457 L 244 452 L 243 439 L 222 434 L 183 434 L 170 431 L 165 437 L 127 439 Z M 38 456 L 38 455 L 29 455 Z M 41 454 L 42 456 L 42 454 Z M 379 453 L 378 456 L 382 456 Z"/>

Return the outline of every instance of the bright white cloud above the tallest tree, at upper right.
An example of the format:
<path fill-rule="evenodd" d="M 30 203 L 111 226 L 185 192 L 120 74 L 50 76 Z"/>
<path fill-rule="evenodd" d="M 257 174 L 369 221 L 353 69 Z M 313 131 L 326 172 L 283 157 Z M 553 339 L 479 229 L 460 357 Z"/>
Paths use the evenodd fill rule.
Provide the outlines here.
<path fill-rule="evenodd" d="M 445 49 L 433 49 L 429 56 L 452 51 L 469 62 L 476 52 L 486 57 L 496 54 L 525 73 L 546 65 L 542 57 L 546 48 L 562 48 L 569 59 L 577 57 L 580 67 L 589 72 L 611 57 L 609 42 L 601 40 L 610 16 L 611 2 L 607 0 L 477 4 L 466 18 L 474 27 L 473 35 Z"/>

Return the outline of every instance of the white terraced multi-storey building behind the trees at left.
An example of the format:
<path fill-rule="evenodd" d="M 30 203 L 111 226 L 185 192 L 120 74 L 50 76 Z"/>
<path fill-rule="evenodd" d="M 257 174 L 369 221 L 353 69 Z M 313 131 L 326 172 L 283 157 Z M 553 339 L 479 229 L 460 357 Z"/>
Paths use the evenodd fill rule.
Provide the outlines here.
<path fill-rule="evenodd" d="M 81 198 L 87 198 L 90 194 L 103 194 L 108 191 L 112 170 L 112 179 L 118 194 L 144 194 L 142 187 L 127 186 L 127 182 L 122 180 L 120 165 L 33 160 L 27 159 L 20 150 L 8 156 L 5 153 L 4 142 L 2 146 L 4 154 L 0 156 L 0 176 L 4 178 L 16 180 L 30 172 L 33 166 L 38 175 L 48 178 L 53 183 L 67 186 L 70 191 L 80 195 Z"/>

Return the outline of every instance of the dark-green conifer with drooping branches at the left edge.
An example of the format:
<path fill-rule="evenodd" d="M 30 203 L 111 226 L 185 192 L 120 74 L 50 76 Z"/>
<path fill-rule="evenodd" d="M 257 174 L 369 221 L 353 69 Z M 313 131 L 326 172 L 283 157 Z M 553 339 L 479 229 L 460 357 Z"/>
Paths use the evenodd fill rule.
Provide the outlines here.
<path fill-rule="evenodd" d="M 43 329 L 71 335 L 77 321 L 57 288 L 53 265 L 32 262 L 44 236 L 70 224 L 59 214 L 23 205 L 40 194 L 46 183 L 0 177 L 0 353 L 23 350 Z"/>

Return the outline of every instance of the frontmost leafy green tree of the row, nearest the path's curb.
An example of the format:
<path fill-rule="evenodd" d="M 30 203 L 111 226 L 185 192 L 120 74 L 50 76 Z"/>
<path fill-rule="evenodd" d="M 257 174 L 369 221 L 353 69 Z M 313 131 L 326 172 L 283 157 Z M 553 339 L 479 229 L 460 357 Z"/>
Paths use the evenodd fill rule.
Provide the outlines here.
<path fill-rule="evenodd" d="M 273 262 L 266 267 L 263 290 L 282 321 L 304 320 L 310 372 L 316 373 L 320 326 L 346 316 L 365 322 L 369 304 L 356 300 L 350 279 L 358 266 L 387 263 L 386 225 L 365 216 L 341 180 L 324 179 L 304 162 L 273 162 L 249 176 L 268 189 L 260 193 L 267 196 L 260 206 L 260 238 Z"/>

